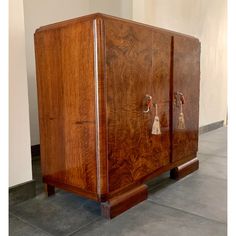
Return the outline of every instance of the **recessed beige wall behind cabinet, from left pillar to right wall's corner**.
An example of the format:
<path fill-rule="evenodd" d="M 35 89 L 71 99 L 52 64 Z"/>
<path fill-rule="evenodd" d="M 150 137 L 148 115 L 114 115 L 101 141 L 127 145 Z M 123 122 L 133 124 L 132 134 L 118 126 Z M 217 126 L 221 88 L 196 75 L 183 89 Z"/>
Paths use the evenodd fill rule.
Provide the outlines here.
<path fill-rule="evenodd" d="M 43 25 L 102 12 L 132 18 L 132 0 L 24 0 L 31 145 L 39 144 L 38 104 L 33 35 Z"/>

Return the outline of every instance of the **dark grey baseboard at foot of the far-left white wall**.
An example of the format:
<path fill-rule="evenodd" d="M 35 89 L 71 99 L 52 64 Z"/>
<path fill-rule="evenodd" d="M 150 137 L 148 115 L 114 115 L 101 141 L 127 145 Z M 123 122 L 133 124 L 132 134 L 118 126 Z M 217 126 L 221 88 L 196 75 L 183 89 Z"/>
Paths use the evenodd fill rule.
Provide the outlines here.
<path fill-rule="evenodd" d="M 9 204 L 15 205 L 36 196 L 35 180 L 27 181 L 22 184 L 9 188 Z"/>

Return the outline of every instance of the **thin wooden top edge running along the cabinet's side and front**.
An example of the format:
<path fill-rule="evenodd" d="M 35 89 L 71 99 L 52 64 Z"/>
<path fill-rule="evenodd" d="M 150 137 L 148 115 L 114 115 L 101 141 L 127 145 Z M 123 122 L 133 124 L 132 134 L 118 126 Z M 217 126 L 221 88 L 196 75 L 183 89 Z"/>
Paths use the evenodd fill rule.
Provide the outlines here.
<path fill-rule="evenodd" d="M 106 15 L 106 14 L 103 14 L 103 13 L 94 13 L 94 14 L 90 14 L 90 15 L 85 15 L 85 16 L 81 16 L 81 17 L 77 17 L 77 18 L 73 18 L 73 19 L 69 19 L 69 20 L 65 20 L 65 21 L 61 21 L 61 22 L 57 22 L 57 23 L 53 23 L 53 24 L 49 24 L 49 25 L 45 25 L 45 26 L 42 26 L 42 27 L 36 29 L 35 34 L 37 34 L 39 32 L 42 32 L 42 31 L 59 29 L 59 28 L 66 27 L 66 26 L 69 26 L 69 25 L 77 23 L 77 22 L 83 22 L 83 21 L 95 20 L 95 19 L 111 19 L 111 20 L 123 21 L 127 24 L 142 26 L 142 27 L 145 27 L 145 28 L 150 28 L 150 29 L 153 29 L 153 30 L 162 31 L 162 32 L 165 32 L 167 34 L 184 36 L 184 37 L 188 37 L 188 38 L 191 38 L 191 39 L 198 40 L 196 37 L 193 37 L 193 36 L 190 36 L 190 35 L 178 33 L 178 32 L 175 32 L 175 31 L 159 28 L 159 27 L 152 26 L 152 25 L 147 25 L 147 24 L 144 24 L 144 23 L 140 23 L 140 22 L 136 22 L 136 21 L 132 21 L 132 20 L 128 20 L 128 19 L 123 19 L 123 18 L 119 18 L 119 17 L 115 17 L 115 16 Z"/>

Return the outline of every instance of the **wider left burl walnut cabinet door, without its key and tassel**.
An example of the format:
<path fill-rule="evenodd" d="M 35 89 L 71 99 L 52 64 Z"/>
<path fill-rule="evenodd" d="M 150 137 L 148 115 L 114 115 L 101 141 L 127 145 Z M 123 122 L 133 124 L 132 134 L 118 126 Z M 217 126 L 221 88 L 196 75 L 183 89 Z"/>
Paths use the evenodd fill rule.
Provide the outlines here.
<path fill-rule="evenodd" d="M 170 162 L 171 37 L 150 28 L 105 20 L 109 191 L 147 177 Z M 152 135 L 158 103 L 162 134 Z"/>

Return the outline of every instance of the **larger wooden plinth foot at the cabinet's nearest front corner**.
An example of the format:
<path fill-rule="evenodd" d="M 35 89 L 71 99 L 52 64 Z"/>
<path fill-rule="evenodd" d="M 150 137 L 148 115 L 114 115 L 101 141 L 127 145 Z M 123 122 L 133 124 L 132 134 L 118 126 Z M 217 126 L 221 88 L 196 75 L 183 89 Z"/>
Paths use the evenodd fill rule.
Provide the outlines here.
<path fill-rule="evenodd" d="M 134 205 L 146 200 L 147 195 L 147 186 L 143 184 L 123 194 L 115 196 L 109 201 L 101 203 L 102 216 L 108 219 L 114 218 Z"/>

